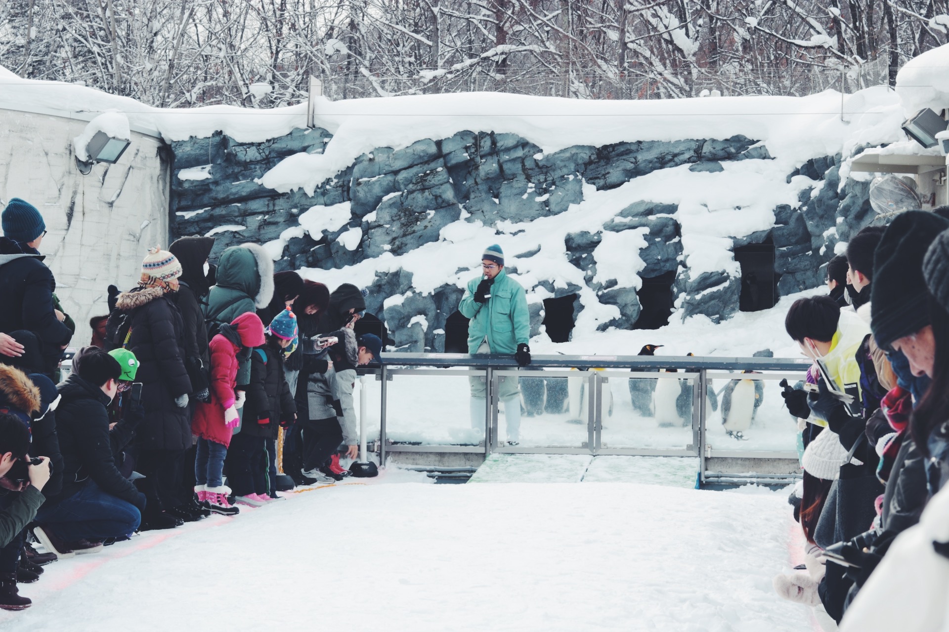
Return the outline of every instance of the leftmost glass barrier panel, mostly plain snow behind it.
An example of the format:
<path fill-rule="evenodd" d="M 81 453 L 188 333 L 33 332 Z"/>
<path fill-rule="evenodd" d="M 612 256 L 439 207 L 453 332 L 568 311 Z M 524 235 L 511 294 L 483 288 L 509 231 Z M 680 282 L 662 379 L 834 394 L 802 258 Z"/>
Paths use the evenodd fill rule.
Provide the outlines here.
<path fill-rule="evenodd" d="M 484 441 L 484 374 L 392 375 L 386 393 L 385 435 L 407 445 L 478 445 Z M 481 397 L 472 397 L 480 390 Z"/>

